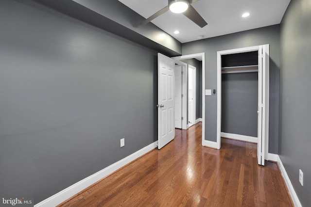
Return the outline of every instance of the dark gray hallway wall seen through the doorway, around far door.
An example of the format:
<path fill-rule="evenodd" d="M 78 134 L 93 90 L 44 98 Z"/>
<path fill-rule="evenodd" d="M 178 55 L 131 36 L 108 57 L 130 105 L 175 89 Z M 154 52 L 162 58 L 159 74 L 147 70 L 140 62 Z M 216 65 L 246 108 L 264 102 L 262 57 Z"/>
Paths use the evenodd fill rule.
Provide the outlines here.
<path fill-rule="evenodd" d="M 195 119 L 202 118 L 202 61 L 194 58 L 182 60 L 187 64 L 196 67 L 196 114 Z"/>

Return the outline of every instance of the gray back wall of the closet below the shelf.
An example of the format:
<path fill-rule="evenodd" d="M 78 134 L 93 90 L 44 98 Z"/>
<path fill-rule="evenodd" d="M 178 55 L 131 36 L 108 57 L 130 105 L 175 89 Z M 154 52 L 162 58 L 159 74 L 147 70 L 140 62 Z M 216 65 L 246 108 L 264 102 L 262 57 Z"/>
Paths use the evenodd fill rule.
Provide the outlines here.
<path fill-rule="evenodd" d="M 257 137 L 258 73 L 222 75 L 222 132 Z"/>

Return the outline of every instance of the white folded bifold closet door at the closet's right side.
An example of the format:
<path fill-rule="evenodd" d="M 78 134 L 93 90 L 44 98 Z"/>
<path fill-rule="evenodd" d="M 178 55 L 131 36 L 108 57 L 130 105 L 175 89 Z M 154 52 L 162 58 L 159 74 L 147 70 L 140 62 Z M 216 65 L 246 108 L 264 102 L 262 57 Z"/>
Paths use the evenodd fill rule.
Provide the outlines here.
<path fill-rule="evenodd" d="M 264 165 L 265 149 L 265 85 L 266 85 L 266 68 L 265 58 L 263 58 L 263 47 L 259 46 L 258 50 L 258 143 L 257 159 L 259 165 Z"/>

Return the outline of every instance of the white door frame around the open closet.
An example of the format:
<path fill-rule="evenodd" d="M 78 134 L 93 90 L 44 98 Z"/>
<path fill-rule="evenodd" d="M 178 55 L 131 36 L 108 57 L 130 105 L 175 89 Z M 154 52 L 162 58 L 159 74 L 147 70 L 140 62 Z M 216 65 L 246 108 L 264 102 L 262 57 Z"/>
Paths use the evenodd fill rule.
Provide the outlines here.
<path fill-rule="evenodd" d="M 263 59 L 265 64 L 265 70 L 263 71 L 263 76 L 265 77 L 265 85 L 262 86 L 262 96 L 265 97 L 265 112 L 263 113 L 263 126 L 264 126 L 264 141 L 262 145 L 262 151 L 264 152 L 263 157 L 268 158 L 269 149 L 269 45 L 254 46 L 247 48 L 229 49 L 217 52 L 217 142 L 216 148 L 221 148 L 221 106 L 222 106 L 222 68 L 221 68 L 221 56 L 226 54 L 242 53 L 259 51 L 259 48 L 263 49 Z"/>

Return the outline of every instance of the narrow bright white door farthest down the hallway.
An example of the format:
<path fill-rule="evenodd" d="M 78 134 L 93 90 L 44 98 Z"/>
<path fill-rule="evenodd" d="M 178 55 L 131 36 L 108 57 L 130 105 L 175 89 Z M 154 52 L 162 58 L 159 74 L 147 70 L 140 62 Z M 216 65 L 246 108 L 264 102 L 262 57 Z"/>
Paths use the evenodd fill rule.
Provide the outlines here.
<path fill-rule="evenodd" d="M 188 68 L 188 123 L 189 127 L 195 124 L 195 67 Z"/>

